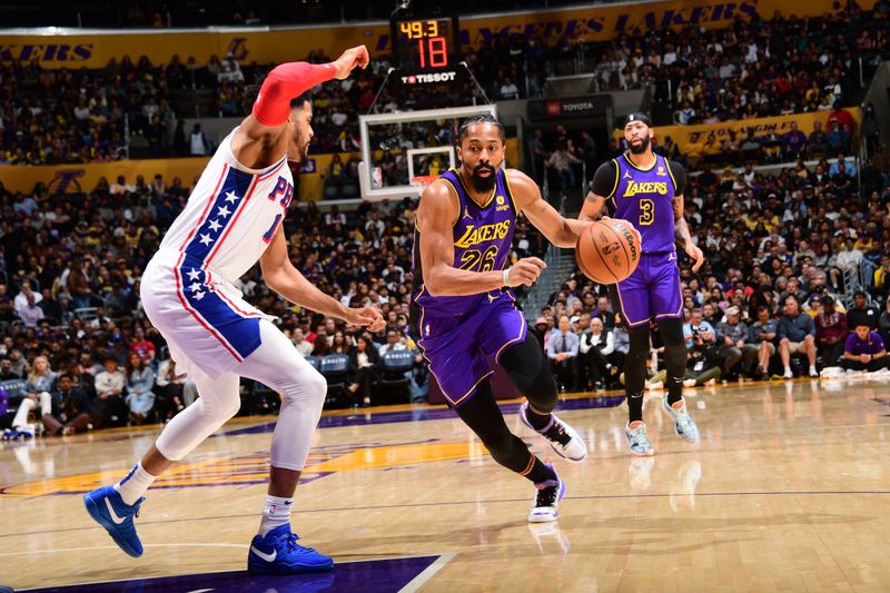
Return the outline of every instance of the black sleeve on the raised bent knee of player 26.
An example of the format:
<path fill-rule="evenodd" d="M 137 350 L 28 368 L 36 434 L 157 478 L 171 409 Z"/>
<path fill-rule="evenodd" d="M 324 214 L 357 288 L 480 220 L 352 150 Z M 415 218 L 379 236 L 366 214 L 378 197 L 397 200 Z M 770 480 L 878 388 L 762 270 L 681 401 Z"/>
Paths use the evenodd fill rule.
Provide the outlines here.
<path fill-rule="evenodd" d="M 536 411 L 547 413 L 556 407 L 558 394 L 550 359 L 534 336 L 527 334 L 524 340 L 504 350 L 501 366 Z"/>

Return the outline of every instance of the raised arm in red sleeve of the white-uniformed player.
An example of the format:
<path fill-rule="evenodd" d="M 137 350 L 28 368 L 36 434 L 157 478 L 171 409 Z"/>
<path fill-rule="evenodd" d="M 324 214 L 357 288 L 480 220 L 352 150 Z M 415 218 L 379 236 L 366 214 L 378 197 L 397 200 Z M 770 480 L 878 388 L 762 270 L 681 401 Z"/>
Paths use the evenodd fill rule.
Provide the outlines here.
<path fill-rule="evenodd" d="M 287 149 L 284 134 L 290 117 L 290 100 L 333 78 L 344 79 L 368 65 L 365 46 L 347 49 L 330 63 L 289 62 L 276 66 L 263 81 L 253 111 L 235 134 L 235 158 L 250 168 L 263 168 L 281 158 Z"/>

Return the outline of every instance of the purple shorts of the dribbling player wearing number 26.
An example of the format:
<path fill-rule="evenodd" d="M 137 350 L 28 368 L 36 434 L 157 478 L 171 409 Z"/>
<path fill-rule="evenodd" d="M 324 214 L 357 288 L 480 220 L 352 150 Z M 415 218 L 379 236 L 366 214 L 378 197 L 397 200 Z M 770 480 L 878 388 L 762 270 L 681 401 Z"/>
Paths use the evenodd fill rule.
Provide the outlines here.
<path fill-rule="evenodd" d="M 515 298 L 507 291 L 484 299 L 475 310 L 461 316 L 436 317 L 431 310 L 421 309 L 418 326 L 417 344 L 453 406 L 472 396 L 476 386 L 494 373 L 488 358 L 500 363 L 503 352 L 525 339 L 528 330 Z"/>

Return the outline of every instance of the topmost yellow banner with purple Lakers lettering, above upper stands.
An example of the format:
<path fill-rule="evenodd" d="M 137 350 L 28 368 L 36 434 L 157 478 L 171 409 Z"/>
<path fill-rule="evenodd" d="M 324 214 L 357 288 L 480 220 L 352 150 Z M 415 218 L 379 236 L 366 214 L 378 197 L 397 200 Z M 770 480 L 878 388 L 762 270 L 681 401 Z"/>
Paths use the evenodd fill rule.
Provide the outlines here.
<path fill-rule="evenodd" d="M 671 0 L 633 4 L 595 6 L 563 10 L 516 12 L 498 16 L 462 17 L 461 43 L 478 46 L 501 33 L 530 37 L 542 34 L 553 42 L 566 36 L 586 41 L 604 41 L 631 32 L 688 24 L 705 28 L 728 27 L 736 18 L 784 16 L 815 17 L 831 10 L 833 0 L 810 0 L 792 4 L 787 0 Z M 870 10 L 876 0 L 859 2 Z M 389 23 L 327 24 L 314 28 L 210 29 L 195 31 L 134 30 L 123 33 L 95 32 L 67 34 L 0 34 L 0 62 L 38 60 L 50 68 L 62 66 L 103 68 L 112 58 L 129 55 L 134 61 L 147 56 L 156 66 L 179 55 L 205 65 L 210 56 L 231 53 L 249 63 L 284 62 L 305 58 L 315 49 L 336 58 L 345 48 L 364 43 L 373 56 L 389 51 Z"/>

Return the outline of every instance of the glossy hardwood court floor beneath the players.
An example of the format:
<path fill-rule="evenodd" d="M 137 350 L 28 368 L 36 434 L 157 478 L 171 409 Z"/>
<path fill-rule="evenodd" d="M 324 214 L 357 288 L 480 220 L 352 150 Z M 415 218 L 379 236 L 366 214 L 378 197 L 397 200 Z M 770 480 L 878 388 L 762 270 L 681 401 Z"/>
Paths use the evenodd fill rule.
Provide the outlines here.
<path fill-rule="evenodd" d="M 81 493 L 126 472 L 157 427 L 6 445 L 0 583 L 197 575 L 209 579 L 208 591 L 890 590 L 887 384 L 798 380 L 689 394 L 701 444 L 680 442 L 653 397 L 644 412 L 656 447 L 650 458 L 629 454 L 620 398 L 567 397 L 562 416 L 587 439 L 581 464 L 555 461 L 520 426 L 516 404 L 504 404 L 507 424 L 555 461 L 568 486 L 558 527 L 536 531 L 525 522 L 530 484 L 497 466 L 449 411 L 326 415 L 294 526 L 335 556 L 336 579 L 300 586 L 237 581 L 265 494 L 271 417 L 228 424 L 157 483 L 138 521 L 139 560 L 91 522 Z M 395 557 L 417 559 L 387 560 Z M 379 562 L 357 562 L 367 560 Z M 380 577 L 393 566 L 409 574 Z M 378 567 L 379 587 L 355 572 Z M 138 583 L 126 590 L 198 589 Z"/>

